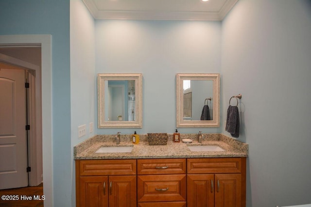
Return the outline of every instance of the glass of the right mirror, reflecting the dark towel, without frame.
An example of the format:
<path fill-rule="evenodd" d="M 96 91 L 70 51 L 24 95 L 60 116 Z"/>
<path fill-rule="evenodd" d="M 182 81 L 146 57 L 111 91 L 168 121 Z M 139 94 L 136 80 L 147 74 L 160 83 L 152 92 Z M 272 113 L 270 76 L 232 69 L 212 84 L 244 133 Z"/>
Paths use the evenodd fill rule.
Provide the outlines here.
<path fill-rule="evenodd" d="M 183 80 L 184 120 L 213 120 L 213 80 Z"/>

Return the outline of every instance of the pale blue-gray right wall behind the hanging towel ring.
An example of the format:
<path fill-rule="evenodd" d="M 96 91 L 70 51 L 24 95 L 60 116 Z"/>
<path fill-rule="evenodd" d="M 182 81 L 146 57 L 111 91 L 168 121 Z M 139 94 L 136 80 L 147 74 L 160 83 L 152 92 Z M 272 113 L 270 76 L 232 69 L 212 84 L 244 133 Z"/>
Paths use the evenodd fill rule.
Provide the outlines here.
<path fill-rule="evenodd" d="M 311 203 L 311 1 L 239 0 L 222 26 L 223 132 L 241 93 L 247 207 Z"/>

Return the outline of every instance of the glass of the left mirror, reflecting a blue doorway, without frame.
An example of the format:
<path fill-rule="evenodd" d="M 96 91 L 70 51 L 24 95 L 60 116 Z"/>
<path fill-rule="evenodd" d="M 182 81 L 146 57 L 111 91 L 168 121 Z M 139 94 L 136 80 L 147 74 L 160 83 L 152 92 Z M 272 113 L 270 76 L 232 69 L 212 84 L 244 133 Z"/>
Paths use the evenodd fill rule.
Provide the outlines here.
<path fill-rule="evenodd" d="M 106 121 L 135 121 L 135 80 L 105 80 Z"/>

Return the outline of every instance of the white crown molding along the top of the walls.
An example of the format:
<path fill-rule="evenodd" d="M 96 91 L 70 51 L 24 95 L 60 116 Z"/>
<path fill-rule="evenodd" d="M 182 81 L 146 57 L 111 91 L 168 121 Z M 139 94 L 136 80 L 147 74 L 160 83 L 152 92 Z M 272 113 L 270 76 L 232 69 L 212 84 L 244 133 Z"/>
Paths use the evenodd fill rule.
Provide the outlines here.
<path fill-rule="evenodd" d="M 221 21 L 238 0 L 226 0 L 218 12 L 167 12 L 133 10 L 99 10 L 93 0 L 83 0 L 95 19 L 200 20 Z"/>

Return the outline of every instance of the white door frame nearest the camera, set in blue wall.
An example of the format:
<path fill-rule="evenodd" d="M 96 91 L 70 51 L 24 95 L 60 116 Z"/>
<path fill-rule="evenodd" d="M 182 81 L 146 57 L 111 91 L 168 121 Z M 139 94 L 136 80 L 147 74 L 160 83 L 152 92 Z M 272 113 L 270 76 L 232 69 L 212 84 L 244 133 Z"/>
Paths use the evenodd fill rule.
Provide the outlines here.
<path fill-rule="evenodd" d="M 0 44 L 41 45 L 41 97 L 42 97 L 42 159 L 44 207 L 53 207 L 52 164 L 52 35 L 0 35 Z"/>

